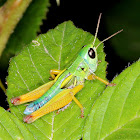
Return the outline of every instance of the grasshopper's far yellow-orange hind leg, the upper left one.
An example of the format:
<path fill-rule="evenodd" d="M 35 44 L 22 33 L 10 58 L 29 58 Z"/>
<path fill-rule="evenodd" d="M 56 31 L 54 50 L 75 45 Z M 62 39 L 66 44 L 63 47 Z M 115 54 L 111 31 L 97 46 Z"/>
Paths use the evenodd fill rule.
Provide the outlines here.
<path fill-rule="evenodd" d="M 11 99 L 11 103 L 14 105 L 20 105 L 26 102 L 34 101 L 39 97 L 41 97 L 47 90 L 49 90 L 53 84 L 54 84 L 54 80 L 24 95 L 14 97 Z"/>

